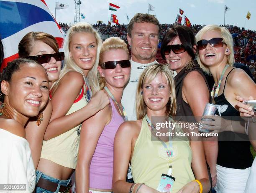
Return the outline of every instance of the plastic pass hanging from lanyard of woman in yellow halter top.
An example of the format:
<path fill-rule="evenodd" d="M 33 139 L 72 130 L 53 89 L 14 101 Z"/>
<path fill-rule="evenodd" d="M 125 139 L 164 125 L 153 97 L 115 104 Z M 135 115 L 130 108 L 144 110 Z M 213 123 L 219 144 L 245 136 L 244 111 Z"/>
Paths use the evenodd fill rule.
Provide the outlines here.
<path fill-rule="evenodd" d="M 168 170 L 168 174 L 163 173 L 161 175 L 161 180 L 157 187 L 157 190 L 159 192 L 170 192 L 171 191 L 172 185 L 175 181 L 175 178 L 172 177 L 171 173 L 172 173 L 172 166 L 170 166 L 170 168 Z"/>

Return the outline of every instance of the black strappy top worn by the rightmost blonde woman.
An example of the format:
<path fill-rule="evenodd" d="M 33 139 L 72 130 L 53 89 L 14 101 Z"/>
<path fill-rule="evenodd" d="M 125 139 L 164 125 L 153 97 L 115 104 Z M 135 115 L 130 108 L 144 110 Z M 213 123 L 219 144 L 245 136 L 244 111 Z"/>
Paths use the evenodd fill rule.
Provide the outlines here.
<path fill-rule="evenodd" d="M 233 68 L 232 70 L 234 70 Z M 232 70 L 228 73 L 228 75 L 232 72 Z M 218 105 L 228 105 L 227 110 L 221 113 L 221 116 L 224 119 L 229 120 L 241 120 L 240 113 L 236 110 L 225 98 L 224 90 L 226 86 L 226 82 L 228 79 L 228 75 L 225 80 L 225 85 L 223 88 L 223 93 L 214 98 L 215 104 Z M 217 115 L 218 110 L 217 110 Z M 236 126 L 236 125 L 232 125 Z M 231 131 L 225 131 L 223 133 L 219 133 L 219 151 L 218 151 L 218 159 L 217 164 L 226 168 L 235 168 L 235 169 L 246 169 L 251 167 L 253 163 L 253 157 L 250 151 L 250 142 L 245 141 L 248 140 L 248 136 L 241 133 L 234 133 Z M 239 138 L 239 141 L 235 141 Z"/>

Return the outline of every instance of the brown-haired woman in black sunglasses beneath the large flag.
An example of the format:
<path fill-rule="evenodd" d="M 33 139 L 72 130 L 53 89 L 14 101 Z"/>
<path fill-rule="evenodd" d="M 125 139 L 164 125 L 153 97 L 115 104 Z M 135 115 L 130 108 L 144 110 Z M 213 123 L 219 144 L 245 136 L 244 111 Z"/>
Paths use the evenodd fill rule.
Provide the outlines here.
<path fill-rule="evenodd" d="M 61 60 L 64 53 L 59 52 L 56 39 L 44 32 L 27 33 L 18 45 L 20 58 L 29 58 L 41 64 L 49 78 L 49 89 L 52 83 L 59 79 Z M 29 118 L 26 124 L 26 139 L 31 148 L 35 168 L 39 163 L 44 133 L 51 118 L 52 106 L 48 101 L 37 117 Z"/>

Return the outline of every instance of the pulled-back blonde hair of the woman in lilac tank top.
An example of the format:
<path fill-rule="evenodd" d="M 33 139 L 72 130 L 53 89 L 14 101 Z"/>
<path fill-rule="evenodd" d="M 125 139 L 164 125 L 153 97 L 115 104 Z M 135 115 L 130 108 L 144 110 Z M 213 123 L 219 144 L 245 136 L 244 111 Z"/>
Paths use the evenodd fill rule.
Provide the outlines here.
<path fill-rule="evenodd" d="M 105 52 L 108 52 L 109 50 L 117 50 L 117 49 L 124 50 L 125 53 L 127 54 L 128 58 L 130 58 L 127 44 L 125 43 L 125 41 L 121 40 L 121 38 L 111 37 L 111 38 L 106 39 L 102 43 L 102 47 L 100 50 L 99 66 L 102 67 L 101 65 L 103 62 L 103 55 Z M 105 86 L 105 78 L 101 77 L 99 73 L 98 73 L 98 78 L 99 78 L 100 89 L 103 89 Z"/>

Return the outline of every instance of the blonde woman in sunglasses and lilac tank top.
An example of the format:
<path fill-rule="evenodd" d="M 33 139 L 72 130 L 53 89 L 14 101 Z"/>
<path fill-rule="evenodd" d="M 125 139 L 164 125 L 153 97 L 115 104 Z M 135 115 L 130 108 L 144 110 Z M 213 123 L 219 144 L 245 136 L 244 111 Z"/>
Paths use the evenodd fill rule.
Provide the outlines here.
<path fill-rule="evenodd" d="M 110 104 L 82 124 L 76 168 L 77 192 L 112 191 L 115 133 L 127 120 L 121 104 L 131 67 L 126 43 L 114 37 L 105 40 L 99 64 L 100 88 L 108 93 Z"/>

